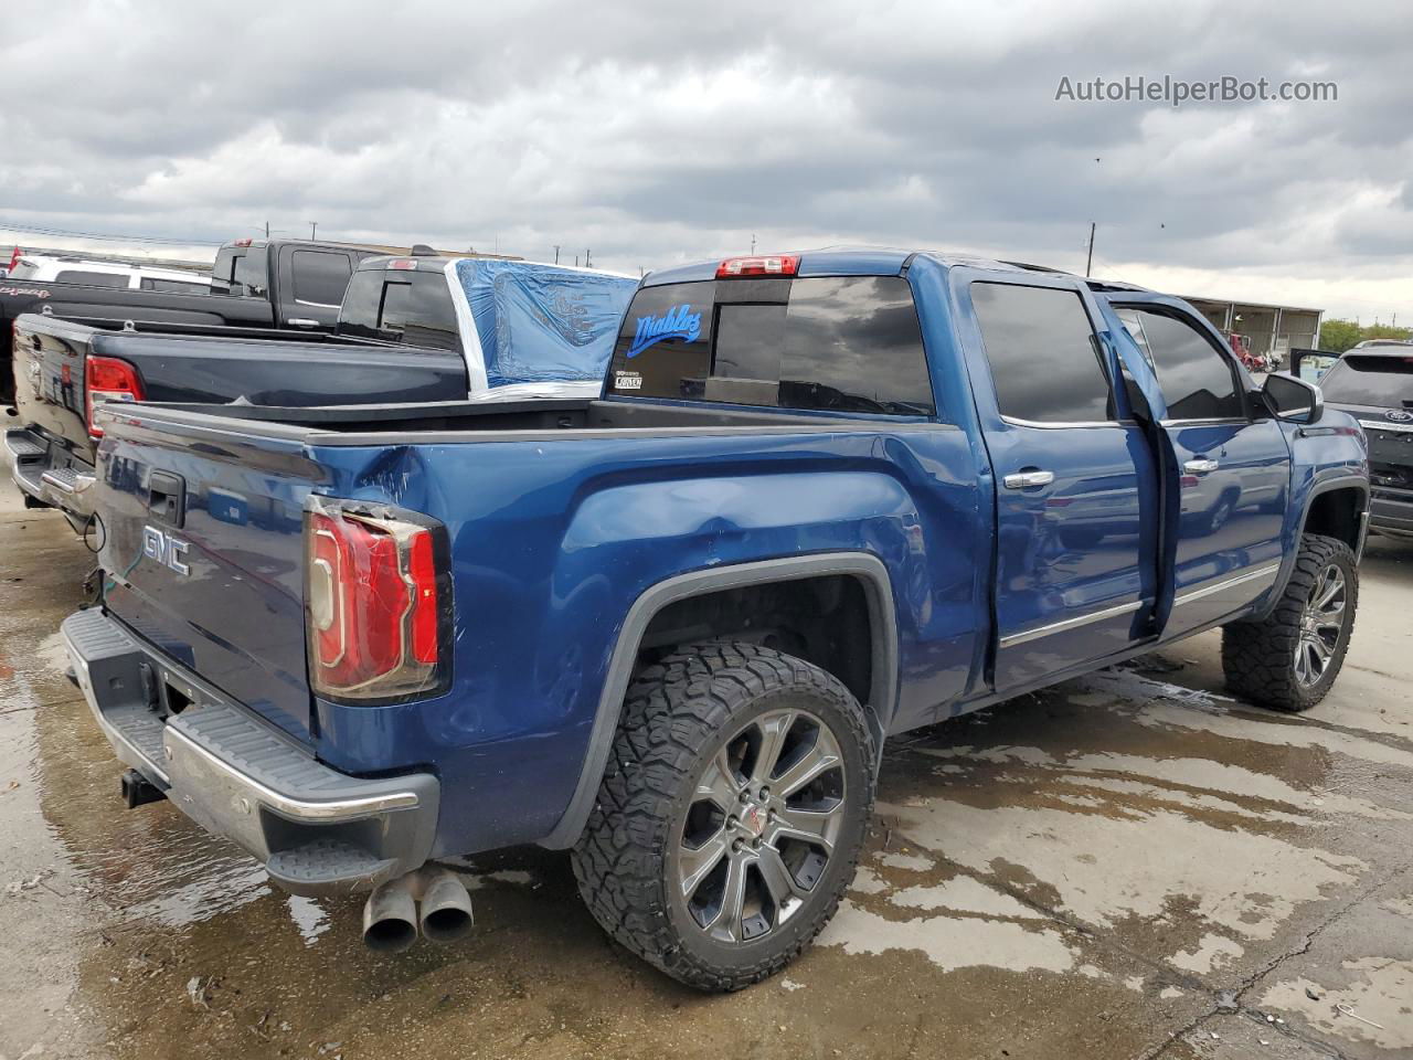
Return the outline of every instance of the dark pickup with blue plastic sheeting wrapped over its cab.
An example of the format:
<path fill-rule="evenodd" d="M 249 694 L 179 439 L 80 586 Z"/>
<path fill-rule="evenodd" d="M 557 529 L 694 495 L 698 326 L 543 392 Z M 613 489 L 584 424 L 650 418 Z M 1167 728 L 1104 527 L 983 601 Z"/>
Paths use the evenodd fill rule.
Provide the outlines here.
<path fill-rule="evenodd" d="M 434 254 L 367 257 L 338 283 L 346 298 L 335 334 L 21 317 L 17 416 L 4 444 L 25 505 L 58 507 L 81 533 L 88 526 L 93 410 L 103 401 L 301 408 L 595 397 L 637 287 L 585 269 Z"/>

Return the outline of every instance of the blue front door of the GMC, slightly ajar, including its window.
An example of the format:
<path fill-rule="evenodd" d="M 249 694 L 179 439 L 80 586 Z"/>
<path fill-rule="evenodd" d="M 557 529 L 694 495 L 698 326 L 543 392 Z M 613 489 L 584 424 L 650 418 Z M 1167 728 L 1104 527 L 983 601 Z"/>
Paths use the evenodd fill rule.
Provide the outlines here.
<path fill-rule="evenodd" d="M 1231 351 L 1171 304 L 1116 307 L 1157 375 L 1163 430 L 1177 455 L 1181 514 L 1173 612 L 1180 635 L 1245 606 L 1270 588 L 1290 493 L 1280 425 L 1249 400 Z"/>

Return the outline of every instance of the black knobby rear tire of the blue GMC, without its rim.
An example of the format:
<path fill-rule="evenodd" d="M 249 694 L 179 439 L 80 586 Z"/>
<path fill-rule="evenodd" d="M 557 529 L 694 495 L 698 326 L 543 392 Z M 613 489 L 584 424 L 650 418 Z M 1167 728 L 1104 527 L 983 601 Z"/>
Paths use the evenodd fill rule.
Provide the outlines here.
<path fill-rule="evenodd" d="M 845 779 L 842 830 L 810 896 L 755 941 L 708 937 L 677 897 L 671 851 L 698 777 L 752 718 L 803 704 L 829 726 Z M 875 797 L 875 739 L 832 674 L 759 644 L 708 642 L 643 669 L 629 687 L 584 835 L 572 851 L 579 893 L 627 950 L 702 991 L 736 991 L 793 961 L 829 921 L 853 879 Z"/>

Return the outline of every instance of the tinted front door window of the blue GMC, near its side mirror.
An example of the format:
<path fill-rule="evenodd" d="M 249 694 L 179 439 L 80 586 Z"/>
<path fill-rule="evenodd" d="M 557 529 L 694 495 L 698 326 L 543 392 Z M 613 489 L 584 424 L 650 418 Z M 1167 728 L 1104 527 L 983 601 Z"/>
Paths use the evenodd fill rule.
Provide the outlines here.
<path fill-rule="evenodd" d="M 1231 358 L 1207 335 L 1166 312 L 1126 307 L 1119 317 L 1154 366 L 1170 420 L 1246 417 Z"/>

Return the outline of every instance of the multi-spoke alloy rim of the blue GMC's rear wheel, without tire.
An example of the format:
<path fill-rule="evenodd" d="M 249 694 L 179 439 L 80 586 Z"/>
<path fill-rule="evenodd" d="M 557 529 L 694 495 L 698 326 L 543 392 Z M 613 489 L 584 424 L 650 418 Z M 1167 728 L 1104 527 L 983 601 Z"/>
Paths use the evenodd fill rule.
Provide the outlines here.
<path fill-rule="evenodd" d="M 752 718 L 704 766 L 677 848 L 677 883 L 708 936 L 783 926 L 824 875 L 845 820 L 839 742 L 810 711 Z"/>

